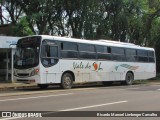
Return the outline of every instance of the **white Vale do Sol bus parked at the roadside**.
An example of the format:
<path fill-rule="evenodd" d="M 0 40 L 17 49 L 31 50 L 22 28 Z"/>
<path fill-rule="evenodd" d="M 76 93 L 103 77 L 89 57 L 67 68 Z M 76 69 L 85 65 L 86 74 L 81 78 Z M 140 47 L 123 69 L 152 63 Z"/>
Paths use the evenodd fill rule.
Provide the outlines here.
<path fill-rule="evenodd" d="M 109 40 L 28 36 L 18 40 L 14 58 L 15 81 L 41 88 L 60 84 L 69 89 L 81 82 L 131 85 L 156 76 L 153 48 Z"/>

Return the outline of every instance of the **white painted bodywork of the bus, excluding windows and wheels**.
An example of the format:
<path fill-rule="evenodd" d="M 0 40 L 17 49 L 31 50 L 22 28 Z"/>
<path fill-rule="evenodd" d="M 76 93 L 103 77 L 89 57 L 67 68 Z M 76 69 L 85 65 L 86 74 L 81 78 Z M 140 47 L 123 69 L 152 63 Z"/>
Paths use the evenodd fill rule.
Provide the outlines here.
<path fill-rule="evenodd" d="M 65 37 L 42 35 L 42 40 L 56 40 L 75 43 L 86 43 L 93 45 L 103 45 L 119 48 L 131 48 L 141 50 L 152 50 L 153 48 L 140 47 L 130 43 L 112 42 L 112 41 L 89 41 Z M 155 63 L 143 62 L 120 62 L 114 60 L 87 60 L 87 59 L 62 59 L 59 58 L 57 64 L 44 67 L 39 60 L 39 74 L 29 77 L 16 77 L 21 80 L 35 80 L 37 84 L 53 84 L 61 83 L 62 75 L 65 71 L 71 71 L 75 76 L 75 83 L 81 82 L 97 82 L 97 81 L 124 81 L 126 73 L 132 71 L 134 80 L 149 79 L 156 76 Z M 18 69 L 15 69 L 17 71 Z M 23 70 L 18 70 L 23 72 Z M 18 74 L 18 73 L 17 73 Z"/>

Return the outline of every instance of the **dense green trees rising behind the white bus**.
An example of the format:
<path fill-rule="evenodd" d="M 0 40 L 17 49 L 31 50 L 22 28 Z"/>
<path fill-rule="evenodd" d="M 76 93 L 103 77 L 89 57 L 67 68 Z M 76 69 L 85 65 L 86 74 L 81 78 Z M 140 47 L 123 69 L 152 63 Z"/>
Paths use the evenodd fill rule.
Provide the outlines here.
<path fill-rule="evenodd" d="M 8 22 L 21 16 L 34 34 L 112 39 L 154 47 L 160 0 L 1 0 Z M 1 19 L 1 24 L 7 19 Z M 155 31 L 155 32 L 153 32 Z"/>

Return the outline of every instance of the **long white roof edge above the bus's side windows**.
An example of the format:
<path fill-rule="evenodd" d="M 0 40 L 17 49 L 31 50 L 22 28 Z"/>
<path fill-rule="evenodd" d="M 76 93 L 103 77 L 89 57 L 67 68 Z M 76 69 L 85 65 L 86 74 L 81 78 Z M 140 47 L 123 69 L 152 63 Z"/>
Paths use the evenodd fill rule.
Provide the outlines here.
<path fill-rule="evenodd" d="M 43 39 L 53 39 L 53 40 L 59 40 L 59 41 L 68 41 L 68 42 L 76 42 L 76 43 L 106 45 L 106 46 L 113 46 L 113 47 L 144 49 L 144 50 L 154 51 L 153 48 L 142 47 L 139 45 L 135 45 L 133 43 L 125 43 L 125 42 L 118 42 L 118 41 L 111 41 L 111 40 L 102 40 L 102 39 L 101 40 L 85 40 L 85 39 L 77 39 L 77 38 L 69 38 L 69 37 L 51 36 L 51 35 L 34 35 L 34 36 L 41 36 Z"/>

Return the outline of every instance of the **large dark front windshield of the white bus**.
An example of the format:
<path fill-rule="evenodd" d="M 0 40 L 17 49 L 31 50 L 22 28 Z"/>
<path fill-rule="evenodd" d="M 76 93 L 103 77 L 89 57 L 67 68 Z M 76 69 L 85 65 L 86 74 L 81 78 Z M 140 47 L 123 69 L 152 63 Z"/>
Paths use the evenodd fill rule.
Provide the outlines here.
<path fill-rule="evenodd" d="M 40 37 L 27 37 L 18 41 L 14 56 L 15 68 L 31 68 L 39 64 Z"/>

